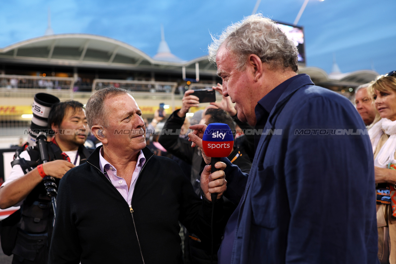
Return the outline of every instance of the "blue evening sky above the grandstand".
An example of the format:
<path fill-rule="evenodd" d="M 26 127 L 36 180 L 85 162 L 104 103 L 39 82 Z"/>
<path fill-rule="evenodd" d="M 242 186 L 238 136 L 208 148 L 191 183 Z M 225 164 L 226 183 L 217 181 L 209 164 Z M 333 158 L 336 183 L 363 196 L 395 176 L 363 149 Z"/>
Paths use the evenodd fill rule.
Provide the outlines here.
<path fill-rule="evenodd" d="M 258 11 L 292 24 L 304 0 L 261 0 Z M 0 0 L 0 47 L 44 35 L 48 7 L 55 34 L 86 33 L 126 42 L 150 56 L 160 25 L 173 54 L 190 60 L 207 54 L 210 34 L 250 15 L 256 0 Z M 331 72 L 396 70 L 394 0 L 310 0 L 298 23 L 305 30 L 307 66 Z"/>

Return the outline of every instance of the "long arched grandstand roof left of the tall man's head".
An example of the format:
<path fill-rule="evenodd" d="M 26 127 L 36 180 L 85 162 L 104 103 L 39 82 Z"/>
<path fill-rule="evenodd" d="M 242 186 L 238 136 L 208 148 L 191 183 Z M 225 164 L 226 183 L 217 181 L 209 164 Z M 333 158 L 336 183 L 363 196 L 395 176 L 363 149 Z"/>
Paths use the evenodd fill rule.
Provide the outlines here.
<path fill-rule="evenodd" d="M 1 60 L 105 68 L 179 68 L 185 61 L 148 56 L 124 42 L 90 34 L 57 34 L 32 38 L 0 49 Z M 188 64 L 188 62 L 187 62 Z"/>

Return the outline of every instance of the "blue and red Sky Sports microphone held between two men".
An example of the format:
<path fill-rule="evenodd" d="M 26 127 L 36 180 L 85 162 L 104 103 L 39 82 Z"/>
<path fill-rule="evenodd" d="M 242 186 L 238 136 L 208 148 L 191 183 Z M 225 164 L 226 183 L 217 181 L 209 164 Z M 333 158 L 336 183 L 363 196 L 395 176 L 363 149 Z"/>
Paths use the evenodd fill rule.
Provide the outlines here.
<path fill-rule="evenodd" d="M 218 171 L 215 168 L 220 158 L 228 157 L 234 146 L 234 136 L 231 129 L 224 123 L 211 123 L 206 127 L 202 137 L 202 147 L 206 156 L 211 157 L 211 173 Z M 211 194 L 212 203 L 217 200 L 217 193 Z"/>

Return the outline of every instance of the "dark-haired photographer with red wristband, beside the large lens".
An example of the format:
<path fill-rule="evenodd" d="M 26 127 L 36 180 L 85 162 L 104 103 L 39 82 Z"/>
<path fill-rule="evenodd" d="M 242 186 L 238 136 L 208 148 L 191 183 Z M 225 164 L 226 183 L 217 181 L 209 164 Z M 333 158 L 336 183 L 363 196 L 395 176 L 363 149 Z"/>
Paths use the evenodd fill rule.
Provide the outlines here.
<path fill-rule="evenodd" d="M 29 172 L 25 174 L 25 161 L 42 163 L 39 160 L 40 152 L 36 148 L 28 148 L 18 157 L 18 163 L 22 166 L 14 164 L 8 179 L 0 188 L 1 209 L 21 205 L 22 217 L 17 224 L 12 263 L 48 262 L 54 216 L 43 178 L 51 176 L 59 186 L 59 179 L 72 167 L 84 163 L 90 155 L 83 145 L 89 130 L 81 103 L 66 101 L 54 104 L 48 124 L 55 132 L 55 137 L 47 143 L 50 161 L 34 168 L 29 167 Z"/>

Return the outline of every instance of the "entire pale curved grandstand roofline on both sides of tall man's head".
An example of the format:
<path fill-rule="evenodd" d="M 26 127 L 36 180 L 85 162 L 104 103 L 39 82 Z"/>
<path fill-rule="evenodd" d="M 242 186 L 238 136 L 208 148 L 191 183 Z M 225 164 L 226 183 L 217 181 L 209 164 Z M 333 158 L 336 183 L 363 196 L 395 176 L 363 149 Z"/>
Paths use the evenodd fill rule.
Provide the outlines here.
<path fill-rule="evenodd" d="M 163 35 L 162 40 L 166 44 Z M 217 68 L 209 63 L 208 56 L 204 55 L 190 61 L 177 60 L 164 43 L 160 43 L 157 55 L 152 58 L 140 49 L 112 38 L 89 34 L 57 34 L 4 47 L 0 49 L 0 61 L 94 68 L 157 69 L 180 73 L 183 66 L 186 72 L 195 73 L 198 62 L 200 74 L 216 74 Z M 158 56 L 161 53 L 171 54 L 174 58 Z M 373 70 L 327 74 L 317 67 L 299 68 L 299 73 L 308 74 L 318 85 L 356 87 L 374 80 L 379 75 Z"/>

